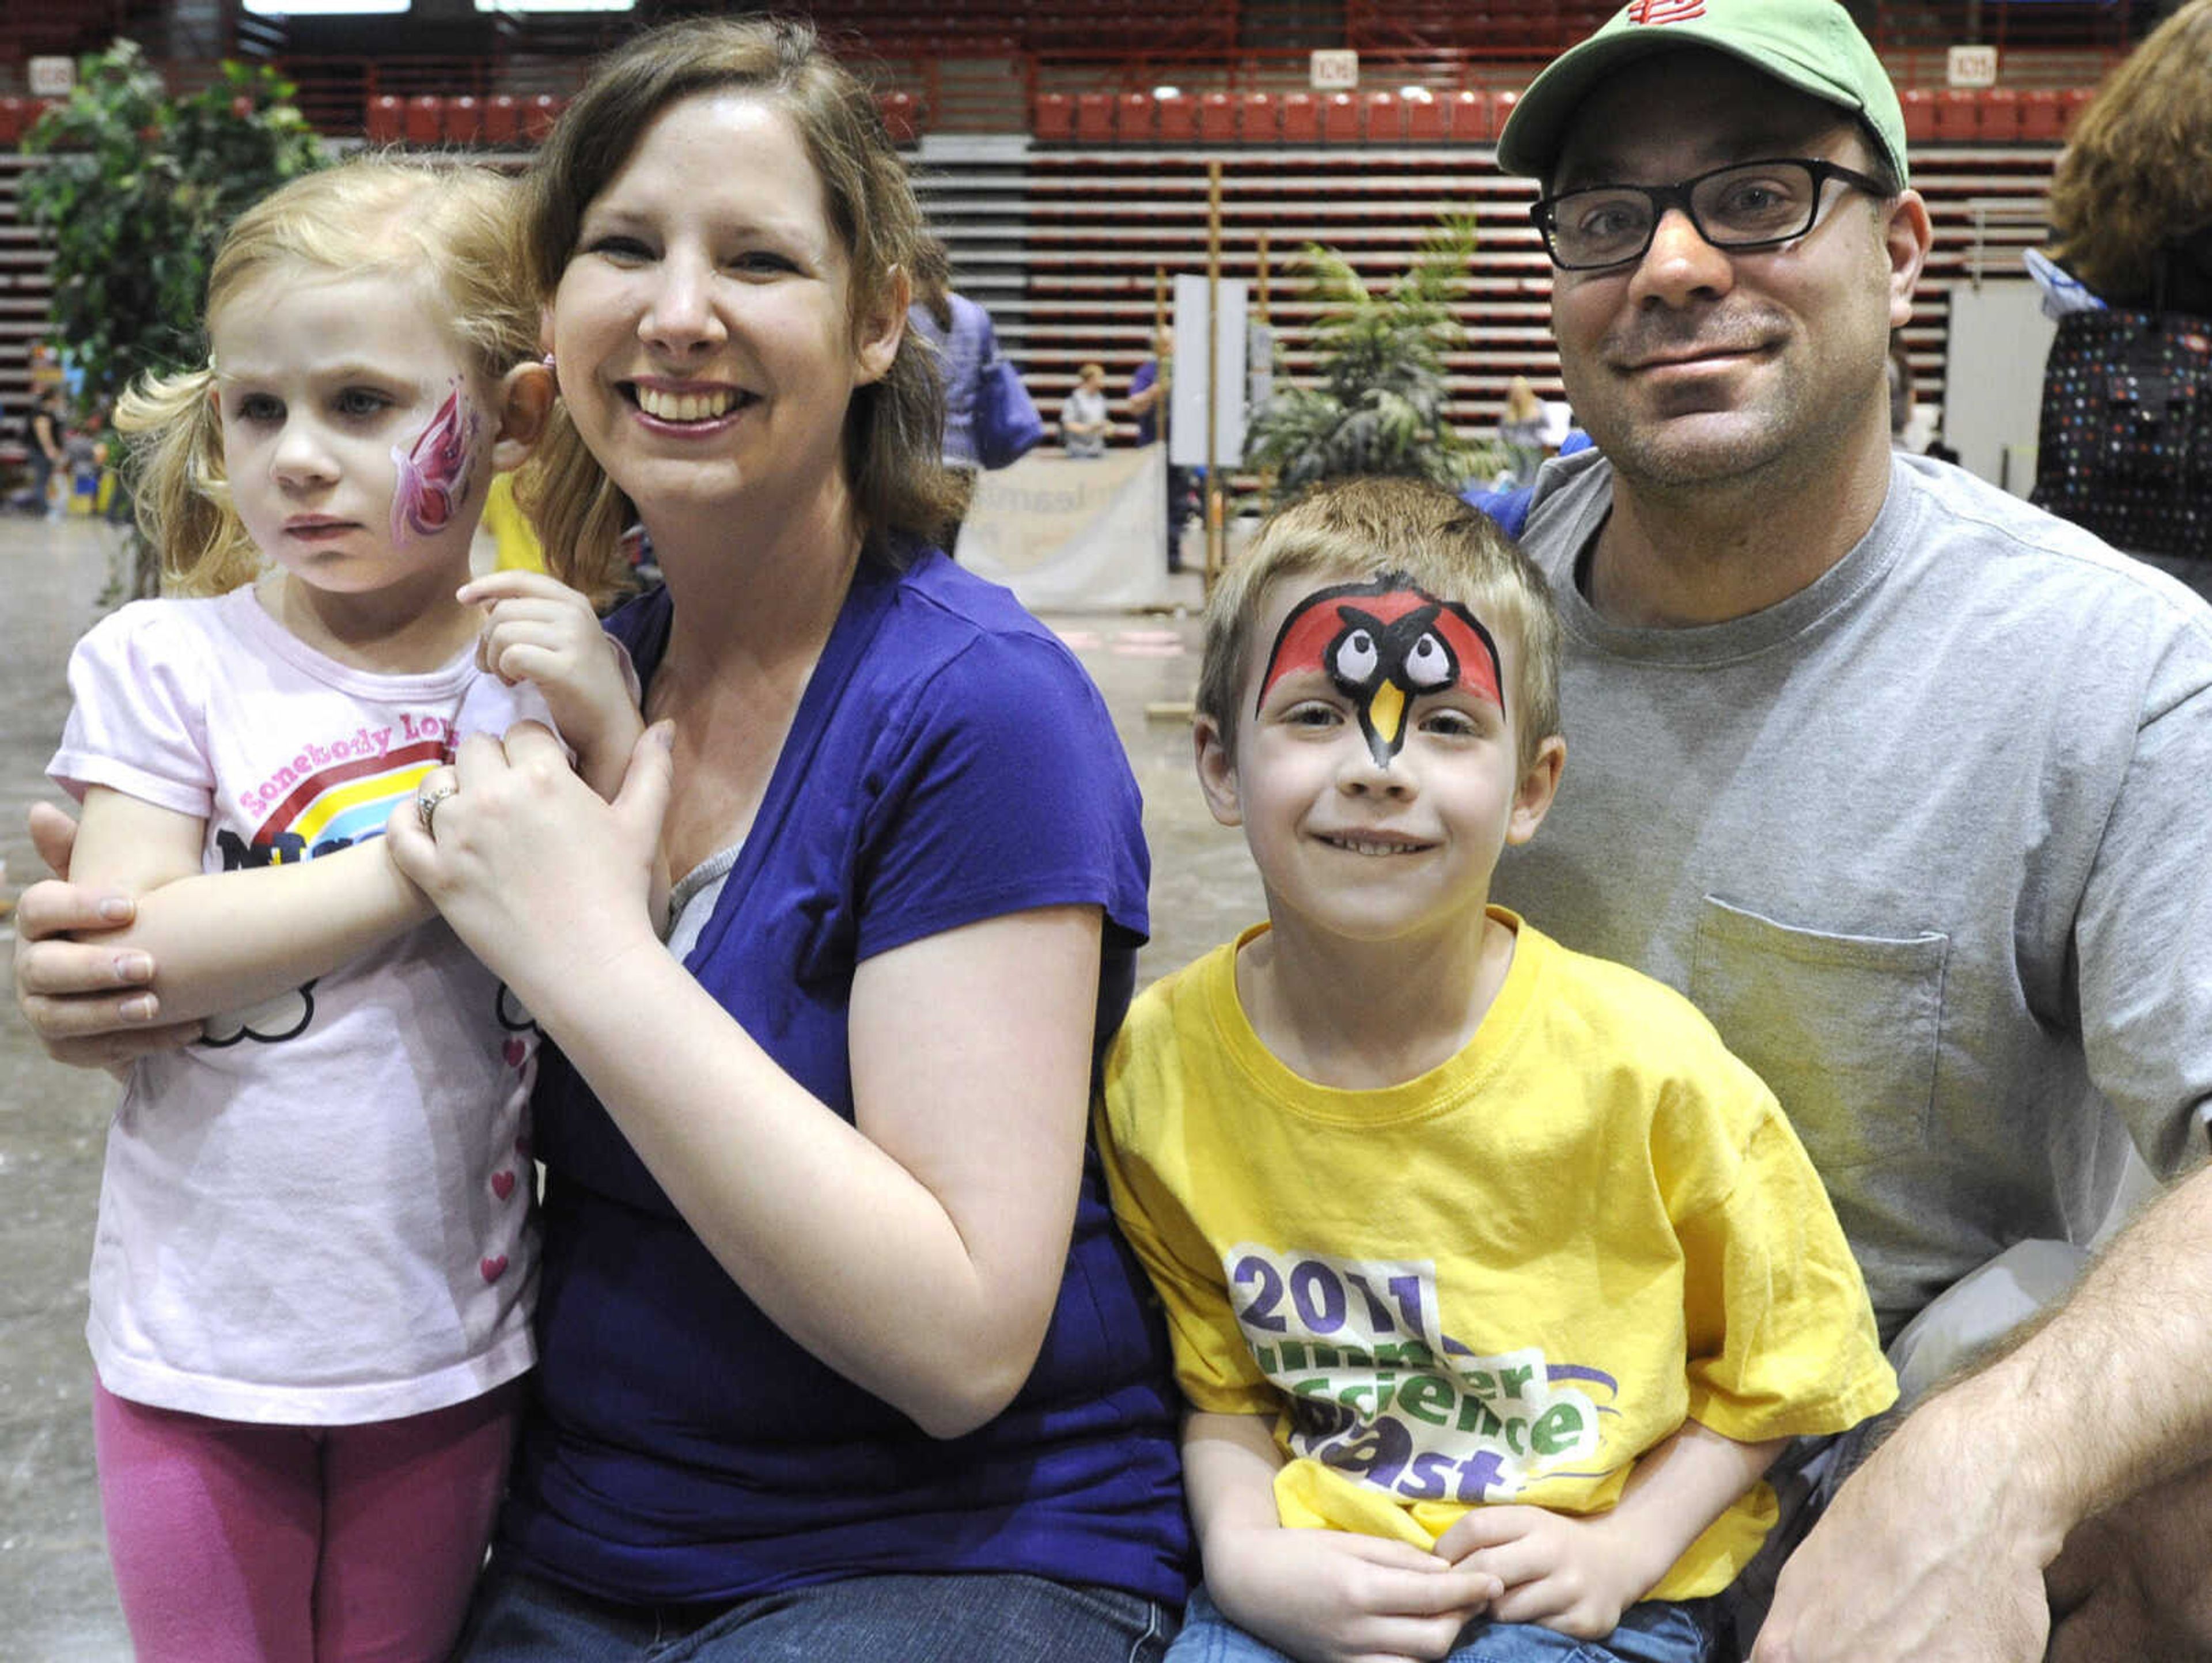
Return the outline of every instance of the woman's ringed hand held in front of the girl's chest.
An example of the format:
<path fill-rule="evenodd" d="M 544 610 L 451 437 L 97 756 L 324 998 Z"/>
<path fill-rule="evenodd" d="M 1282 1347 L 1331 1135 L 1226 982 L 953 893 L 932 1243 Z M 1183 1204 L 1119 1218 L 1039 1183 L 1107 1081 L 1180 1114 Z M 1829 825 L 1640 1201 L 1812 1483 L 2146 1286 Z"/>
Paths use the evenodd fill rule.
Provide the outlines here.
<path fill-rule="evenodd" d="M 504 741 L 465 739 L 456 781 L 460 789 L 438 803 L 436 836 L 414 803 L 392 816 L 392 858 L 524 1004 L 540 1008 L 580 960 L 639 944 L 659 951 L 648 896 L 668 812 L 666 725 L 639 736 L 613 803 L 533 721 Z"/>

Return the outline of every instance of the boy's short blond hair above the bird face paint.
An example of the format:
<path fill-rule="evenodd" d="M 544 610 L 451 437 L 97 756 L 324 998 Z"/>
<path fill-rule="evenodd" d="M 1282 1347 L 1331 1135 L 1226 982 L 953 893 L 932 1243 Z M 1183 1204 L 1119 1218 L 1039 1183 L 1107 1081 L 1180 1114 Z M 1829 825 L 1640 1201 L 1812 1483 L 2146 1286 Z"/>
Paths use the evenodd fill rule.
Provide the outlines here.
<path fill-rule="evenodd" d="M 1438 484 L 1402 478 L 1325 480 L 1276 509 L 1206 602 L 1197 708 L 1230 756 L 1267 588 L 1283 577 L 1389 575 L 1467 606 L 1500 644 L 1520 644 L 1506 717 L 1522 770 L 1535 763 L 1537 747 L 1559 732 L 1559 615 L 1544 573 L 1486 513 Z"/>

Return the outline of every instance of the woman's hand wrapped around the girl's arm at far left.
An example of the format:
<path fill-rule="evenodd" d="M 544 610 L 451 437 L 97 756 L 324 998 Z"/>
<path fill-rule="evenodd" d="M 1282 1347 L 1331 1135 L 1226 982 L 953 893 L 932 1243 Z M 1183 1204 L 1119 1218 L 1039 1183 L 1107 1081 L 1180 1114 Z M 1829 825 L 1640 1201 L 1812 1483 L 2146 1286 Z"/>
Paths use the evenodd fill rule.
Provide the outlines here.
<path fill-rule="evenodd" d="M 146 986 L 153 958 L 102 944 L 137 909 L 128 896 L 69 882 L 75 838 L 75 820 L 51 803 L 31 805 L 31 845 L 55 876 L 15 902 L 15 1006 L 55 1061 L 117 1070 L 190 1044 L 199 1024 L 161 1024 Z"/>

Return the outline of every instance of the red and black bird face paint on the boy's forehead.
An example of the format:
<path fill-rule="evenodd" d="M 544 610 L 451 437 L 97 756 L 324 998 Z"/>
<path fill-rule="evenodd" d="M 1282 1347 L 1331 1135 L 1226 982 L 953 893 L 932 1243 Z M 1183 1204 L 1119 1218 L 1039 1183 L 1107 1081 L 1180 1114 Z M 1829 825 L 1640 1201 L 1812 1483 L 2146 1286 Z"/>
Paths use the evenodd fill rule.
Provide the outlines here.
<path fill-rule="evenodd" d="M 1413 588 L 1402 573 L 1316 588 L 1298 602 L 1274 637 L 1261 703 L 1294 670 L 1321 670 L 1352 701 L 1376 767 L 1389 767 L 1405 745 L 1405 710 L 1422 694 L 1464 688 L 1506 708 L 1491 632 L 1464 606 Z"/>

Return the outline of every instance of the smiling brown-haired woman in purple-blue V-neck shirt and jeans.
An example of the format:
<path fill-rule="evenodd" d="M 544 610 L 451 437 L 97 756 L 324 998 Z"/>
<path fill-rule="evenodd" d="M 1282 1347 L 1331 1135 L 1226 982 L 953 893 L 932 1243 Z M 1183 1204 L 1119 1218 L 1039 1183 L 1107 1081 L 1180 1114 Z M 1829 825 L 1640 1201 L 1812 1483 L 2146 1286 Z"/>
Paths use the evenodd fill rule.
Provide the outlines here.
<path fill-rule="evenodd" d="M 644 520 L 666 588 L 608 624 L 653 723 L 613 805 L 524 725 L 392 829 L 551 1042 L 540 1369 L 467 1659 L 1175 1630 L 1172 1387 L 1084 1143 L 1137 789 L 1075 659 L 929 546 L 922 237 L 801 24 L 639 38 L 533 170 L 562 398 L 524 500 L 586 590 Z"/>

